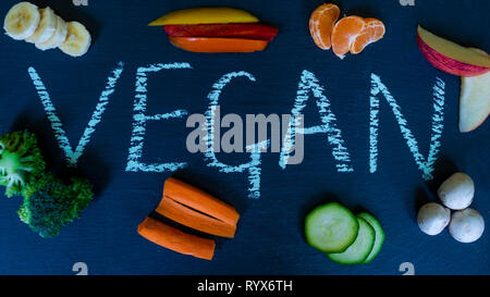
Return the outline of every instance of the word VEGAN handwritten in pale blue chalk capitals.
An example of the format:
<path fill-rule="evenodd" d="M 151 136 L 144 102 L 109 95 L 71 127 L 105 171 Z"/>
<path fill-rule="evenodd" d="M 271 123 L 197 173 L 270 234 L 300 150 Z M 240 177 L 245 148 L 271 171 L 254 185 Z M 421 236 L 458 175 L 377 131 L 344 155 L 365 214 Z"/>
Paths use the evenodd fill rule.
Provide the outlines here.
<path fill-rule="evenodd" d="M 97 125 L 102 121 L 106 109 L 115 91 L 117 85 L 124 71 L 124 63 L 118 63 L 117 67 L 111 71 L 107 78 L 105 89 L 100 94 L 98 102 L 91 114 L 89 122 L 78 139 L 77 146 L 74 148 L 69 140 L 69 137 L 63 128 L 63 124 L 58 116 L 54 103 L 51 96 L 41 81 L 40 74 L 35 67 L 28 69 L 28 74 L 33 81 L 35 89 L 40 98 L 41 104 L 45 109 L 48 120 L 51 123 L 54 136 L 61 150 L 63 150 L 69 165 L 75 166 L 78 159 L 83 156 L 84 149 L 89 144 L 91 135 L 96 132 Z M 127 150 L 126 172 L 173 172 L 179 169 L 187 166 L 185 160 L 173 160 L 164 163 L 145 163 L 142 161 L 144 154 L 146 126 L 151 121 L 183 121 L 187 127 L 196 128 L 196 134 L 201 134 L 197 147 L 188 149 L 193 153 L 201 152 L 207 166 L 216 168 L 222 173 L 242 173 L 246 175 L 248 182 L 248 197 L 260 197 L 260 176 L 261 176 L 261 154 L 268 152 L 271 147 L 271 139 L 265 137 L 264 133 L 259 133 L 259 139 L 247 139 L 245 150 L 249 153 L 249 161 L 240 165 L 230 165 L 221 162 L 217 154 L 217 144 L 219 136 L 217 135 L 217 116 L 219 111 L 221 92 L 225 87 L 240 87 L 240 84 L 256 84 L 255 76 L 245 71 L 237 71 L 226 73 L 218 78 L 217 83 L 211 86 L 211 90 L 207 97 L 209 106 L 201 114 L 199 121 L 193 119 L 193 115 L 185 109 L 177 109 L 168 111 L 162 114 L 149 114 L 147 110 L 147 102 L 149 100 L 147 95 L 148 75 L 157 75 L 160 72 L 186 71 L 192 72 L 193 66 L 189 63 L 157 63 L 148 66 L 138 67 L 135 77 L 135 97 L 133 104 L 133 127 L 130 140 L 130 148 Z M 379 122 L 380 122 L 380 106 L 387 104 L 400 127 L 400 132 L 406 141 L 409 152 L 413 154 L 417 168 L 421 171 L 422 177 L 426 181 L 432 180 L 432 172 L 434 162 L 438 159 L 441 147 L 441 136 L 444 122 L 444 95 L 445 84 L 442 79 L 436 78 L 432 92 L 432 123 L 430 128 L 430 148 L 429 153 L 425 157 L 420 152 L 418 141 L 409 128 L 409 123 L 405 119 L 402 107 L 397 103 L 394 96 L 391 95 L 388 86 L 382 83 L 382 78 L 377 74 L 370 75 L 371 89 L 368 97 L 369 100 L 369 170 L 370 173 L 378 171 L 379 149 L 378 140 L 380 137 Z M 298 164 L 303 160 L 303 141 L 307 135 L 324 135 L 326 148 L 330 150 L 336 171 L 340 173 L 354 172 L 351 152 L 347 146 L 345 135 L 338 125 L 338 117 L 333 112 L 334 106 L 330 98 L 327 97 L 326 88 L 317 76 L 307 70 L 299 75 L 299 82 L 295 99 L 292 101 L 292 109 L 286 121 L 282 121 L 281 140 L 282 146 L 278 152 L 278 139 L 272 135 L 272 151 L 279 153 L 279 166 L 283 170 L 287 165 Z M 304 115 L 304 109 L 307 104 L 316 104 L 318 114 Z M 195 115 L 195 114 L 194 114 Z M 258 115 L 257 115 L 258 116 Z M 304 127 L 303 116 L 308 119 L 319 120 L 316 126 Z M 224 119 L 224 117 L 223 117 Z M 204 121 L 206 120 L 206 121 Z M 222 127 L 222 120 L 220 121 Z M 198 124 L 200 123 L 200 124 Z M 206 123 L 206 124 L 203 124 Z M 256 122 L 268 123 L 266 121 Z M 197 127 L 196 127 L 196 124 Z M 230 128 L 232 129 L 232 128 Z M 247 128 L 247 132 L 249 129 Z M 255 129 L 254 129 L 255 131 Z M 260 127 L 259 127 L 260 131 Z M 264 127 L 262 127 L 264 131 Z M 267 127 L 266 127 L 267 134 Z M 192 135 L 187 137 L 193 138 Z M 255 137 L 254 137 L 255 138 Z M 267 139 L 266 139 L 267 138 Z M 223 139 L 221 139 L 222 141 Z M 188 145 L 188 144 L 187 144 Z M 187 146 L 188 147 L 188 146 Z M 197 148 L 197 149 L 196 149 Z M 298 149 L 301 148 L 301 149 Z M 234 149 L 229 151 L 235 151 Z M 226 152 L 226 151 L 224 151 Z M 299 152 L 299 153 L 298 153 Z M 305 157 L 307 158 L 307 157 Z"/>

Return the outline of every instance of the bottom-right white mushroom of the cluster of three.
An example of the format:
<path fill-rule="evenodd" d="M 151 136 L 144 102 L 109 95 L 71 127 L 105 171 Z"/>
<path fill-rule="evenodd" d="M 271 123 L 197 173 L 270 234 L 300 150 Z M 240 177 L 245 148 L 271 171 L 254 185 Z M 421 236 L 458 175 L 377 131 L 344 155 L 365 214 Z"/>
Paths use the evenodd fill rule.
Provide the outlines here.
<path fill-rule="evenodd" d="M 469 244 L 478 240 L 485 231 L 485 221 L 481 214 L 470 208 L 453 213 L 450 223 L 450 234 L 457 242 Z"/>

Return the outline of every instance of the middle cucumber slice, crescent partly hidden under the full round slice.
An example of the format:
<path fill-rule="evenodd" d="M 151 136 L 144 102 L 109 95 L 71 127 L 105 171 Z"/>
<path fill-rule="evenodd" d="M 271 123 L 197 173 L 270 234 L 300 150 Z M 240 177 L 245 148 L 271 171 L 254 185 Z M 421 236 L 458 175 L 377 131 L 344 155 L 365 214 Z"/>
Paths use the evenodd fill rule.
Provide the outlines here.
<path fill-rule="evenodd" d="M 328 253 L 330 260 L 343 265 L 362 264 L 375 246 L 376 232 L 371 225 L 363 218 L 357 218 L 359 233 L 356 240 L 340 253 Z"/>

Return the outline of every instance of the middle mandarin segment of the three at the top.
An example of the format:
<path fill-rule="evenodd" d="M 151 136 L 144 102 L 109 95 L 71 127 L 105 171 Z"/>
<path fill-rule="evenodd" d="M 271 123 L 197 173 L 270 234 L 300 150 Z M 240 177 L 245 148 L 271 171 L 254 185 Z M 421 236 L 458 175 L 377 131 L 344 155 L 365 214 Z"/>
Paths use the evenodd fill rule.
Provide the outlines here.
<path fill-rule="evenodd" d="M 351 50 L 351 45 L 366 26 L 363 17 L 345 16 L 336 22 L 332 32 L 332 49 L 341 59 Z"/>

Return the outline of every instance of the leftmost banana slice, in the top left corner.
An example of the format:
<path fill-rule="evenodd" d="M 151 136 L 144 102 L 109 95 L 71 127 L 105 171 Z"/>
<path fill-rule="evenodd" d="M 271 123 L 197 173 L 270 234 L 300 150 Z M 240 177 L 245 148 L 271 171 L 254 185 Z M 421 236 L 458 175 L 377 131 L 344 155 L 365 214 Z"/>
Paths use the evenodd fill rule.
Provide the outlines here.
<path fill-rule="evenodd" d="M 32 36 L 40 22 L 39 10 L 35 4 L 21 2 L 13 5 L 7 13 L 3 29 L 15 40 Z"/>

